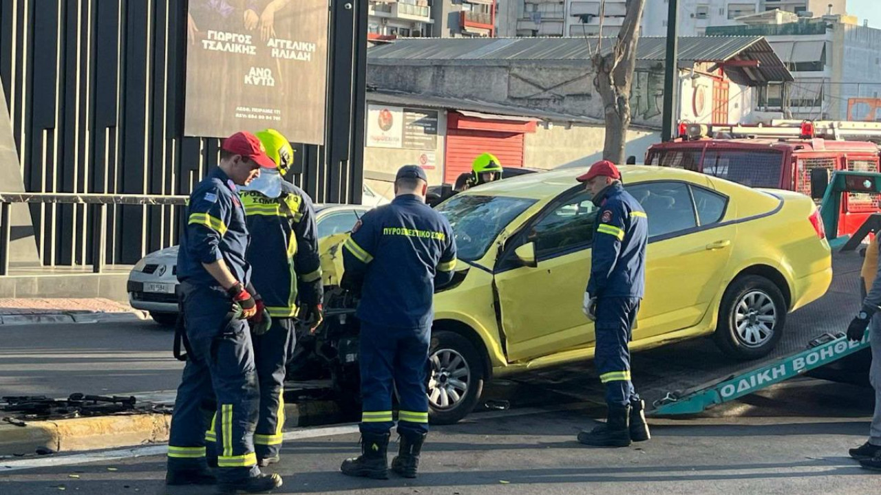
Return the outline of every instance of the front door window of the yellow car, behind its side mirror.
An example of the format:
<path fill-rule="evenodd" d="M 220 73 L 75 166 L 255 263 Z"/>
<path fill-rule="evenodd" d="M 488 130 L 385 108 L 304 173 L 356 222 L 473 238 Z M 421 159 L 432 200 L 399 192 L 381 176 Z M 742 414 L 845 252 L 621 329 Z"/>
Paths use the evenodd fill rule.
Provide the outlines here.
<path fill-rule="evenodd" d="M 538 259 L 590 246 L 596 222 L 596 206 L 590 197 L 589 191 L 581 190 L 532 226 L 528 239 L 535 241 Z"/>

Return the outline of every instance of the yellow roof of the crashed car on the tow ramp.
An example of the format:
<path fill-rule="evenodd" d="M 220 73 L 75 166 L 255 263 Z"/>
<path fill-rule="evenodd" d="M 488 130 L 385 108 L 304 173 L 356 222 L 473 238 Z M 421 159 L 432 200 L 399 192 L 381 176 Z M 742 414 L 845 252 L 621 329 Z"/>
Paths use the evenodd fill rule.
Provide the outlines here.
<path fill-rule="evenodd" d="M 504 181 L 494 181 L 470 188 L 460 194 L 512 196 L 540 200 L 557 196 L 569 188 L 578 186 L 579 183 L 575 181 L 575 177 L 584 174 L 589 168 L 589 166 L 581 166 L 537 174 L 524 174 Z M 625 184 L 658 180 L 707 183 L 707 175 L 705 174 L 669 166 L 622 165 L 618 166 L 618 170 L 621 171 L 621 179 Z"/>

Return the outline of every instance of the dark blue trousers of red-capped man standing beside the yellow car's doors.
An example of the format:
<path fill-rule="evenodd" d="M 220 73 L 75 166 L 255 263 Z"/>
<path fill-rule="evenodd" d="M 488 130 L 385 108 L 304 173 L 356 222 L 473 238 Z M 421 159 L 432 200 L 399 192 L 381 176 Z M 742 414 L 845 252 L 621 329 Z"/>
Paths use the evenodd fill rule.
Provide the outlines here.
<path fill-rule="evenodd" d="M 630 380 L 630 349 L 633 322 L 640 298 L 600 298 L 596 301 L 596 370 L 606 387 L 606 403 L 625 406 L 639 400 Z"/>

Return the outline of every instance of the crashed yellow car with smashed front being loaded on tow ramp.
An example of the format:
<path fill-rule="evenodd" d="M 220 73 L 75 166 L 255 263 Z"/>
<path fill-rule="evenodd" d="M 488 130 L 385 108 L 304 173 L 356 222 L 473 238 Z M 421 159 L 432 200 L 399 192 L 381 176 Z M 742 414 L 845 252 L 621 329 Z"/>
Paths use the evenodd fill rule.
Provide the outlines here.
<path fill-rule="evenodd" d="M 646 294 L 633 331 L 639 351 L 714 336 L 741 359 L 766 356 L 787 314 L 822 296 L 832 258 L 811 198 L 747 188 L 706 174 L 621 166 L 648 214 Z M 492 378 L 593 358 L 581 313 L 596 206 L 572 170 L 528 174 L 464 191 L 437 211 L 453 227 L 458 266 L 435 293 L 431 419 L 465 417 Z M 325 281 L 342 274 L 339 243 L 322 240 Z M 357 388 L 357 306 L 327 286 L 317 343 L 336 388 Z M 345 396 L 358 396 L 348 390 Z"/>

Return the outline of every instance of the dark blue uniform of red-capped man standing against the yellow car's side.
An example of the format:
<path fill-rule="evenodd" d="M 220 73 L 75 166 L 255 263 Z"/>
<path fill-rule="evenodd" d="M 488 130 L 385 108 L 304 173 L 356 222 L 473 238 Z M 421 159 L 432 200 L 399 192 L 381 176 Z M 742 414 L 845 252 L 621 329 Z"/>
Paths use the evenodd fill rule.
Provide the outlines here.
<path fill-rule="evenodd" d="M 599 207 L 587 292 L 596 297 L 596 368 L 606 402 L 627 405 L 639 395 L 630 380 L 633 322 L 645 292 L 648 217 L 620 182 L 594 198 Z"/>

